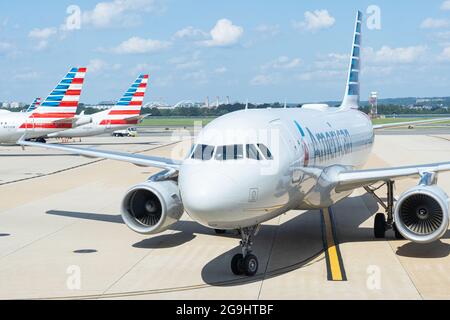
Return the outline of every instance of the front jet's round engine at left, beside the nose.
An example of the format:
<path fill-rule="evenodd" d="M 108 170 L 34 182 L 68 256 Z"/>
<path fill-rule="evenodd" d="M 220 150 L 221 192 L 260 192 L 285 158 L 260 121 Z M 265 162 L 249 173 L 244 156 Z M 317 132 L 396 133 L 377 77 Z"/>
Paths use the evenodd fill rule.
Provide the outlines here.
<path fill-rule="evenodd" d="M 166 231 L 181 219 L 184 208 L 176 182 L 148 181 L 128 191 L 122 202 L 122 218 L 140 234 Z"/>

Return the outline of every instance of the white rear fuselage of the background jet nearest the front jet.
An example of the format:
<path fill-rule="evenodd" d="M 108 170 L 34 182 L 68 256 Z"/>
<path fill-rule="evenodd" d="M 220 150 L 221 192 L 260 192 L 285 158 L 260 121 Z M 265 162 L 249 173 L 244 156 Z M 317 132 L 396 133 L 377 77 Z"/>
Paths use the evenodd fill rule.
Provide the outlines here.
<path fill-rule="evenodd" d="M 78 126 L 73 129 L 64 130 L 60 132 L 56 132 L 53 134 L 49 134 L 49 138 L 82 138 L 82 137 L 92 137 L 98 136 L 106 133 L 112 133 L 116 130 L 127 129 L 133 124 L 114 124 L 113 122 L 105 122 L 105 118 L 107 118 L 109 110 L 101 111 L 89 116 L 82 116 L 80 121 L 83 119 L 92 119 L 90 123 Z M 89 122 L 89 121 L 86 121 Z"/>

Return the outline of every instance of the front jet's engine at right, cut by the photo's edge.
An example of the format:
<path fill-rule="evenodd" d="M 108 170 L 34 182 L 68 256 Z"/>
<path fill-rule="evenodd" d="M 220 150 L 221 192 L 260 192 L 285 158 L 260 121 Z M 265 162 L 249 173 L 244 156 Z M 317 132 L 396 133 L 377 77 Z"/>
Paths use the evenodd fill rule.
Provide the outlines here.
<path fill-rule="evenodd" d="M 395 208 L 395 224 L 408 240 L 430 243 L 449 226 L 449 197 L 437 186 L 418 186 L 405 192 Z"/>

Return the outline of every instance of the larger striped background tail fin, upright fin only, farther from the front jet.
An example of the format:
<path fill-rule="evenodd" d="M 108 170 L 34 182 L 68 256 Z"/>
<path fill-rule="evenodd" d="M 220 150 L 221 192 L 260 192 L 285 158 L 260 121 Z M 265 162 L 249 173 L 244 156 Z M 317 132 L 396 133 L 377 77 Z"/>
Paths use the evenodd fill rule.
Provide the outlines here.
<path fill-rule="evenodd" d="M 86 71 L 86 68 L 72 68 L 44 102 L 36 108 L 33 117 L 73 118 L 77 112 Z"/>

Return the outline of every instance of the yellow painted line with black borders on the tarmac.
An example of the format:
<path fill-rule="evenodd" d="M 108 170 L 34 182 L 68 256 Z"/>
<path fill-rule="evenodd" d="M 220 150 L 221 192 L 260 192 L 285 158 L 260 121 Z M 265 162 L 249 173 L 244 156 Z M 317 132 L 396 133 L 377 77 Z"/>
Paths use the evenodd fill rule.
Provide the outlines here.
<path fill-rule="evenodd" d="M 321 210 L 323 245 L 329 281 L 347 281 L 331 209 Z"/>

